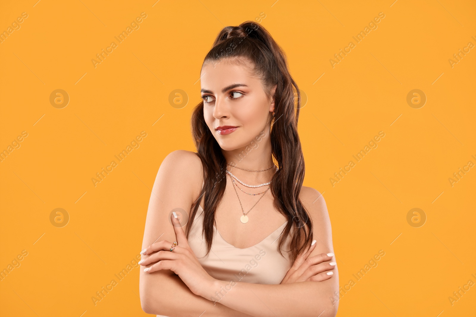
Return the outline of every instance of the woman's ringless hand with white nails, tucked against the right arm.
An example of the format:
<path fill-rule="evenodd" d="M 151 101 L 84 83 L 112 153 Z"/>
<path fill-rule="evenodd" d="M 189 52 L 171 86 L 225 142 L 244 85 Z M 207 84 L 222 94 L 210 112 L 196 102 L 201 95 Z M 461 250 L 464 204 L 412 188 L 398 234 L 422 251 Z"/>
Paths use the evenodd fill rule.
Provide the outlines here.
<path fill-rule="evenodd" d="M 316 248 L 316 240 L 313 240 L 314 245 L 311 245 L 309 249 L 301 254 L 299 254 L 294 261 L 292 267 L 286 273 L 286 276 L 279 284 L 289 284 L 295 282 L 304 282 L 304 281 L 316 281 L 320 282 L 332 277 L 331 269 L 336 267 L 336 262 L 331 263 L 322 263 L 332 259 L 332 256 L 328 256 L 326 253 L 317 254 L 313 257 L 308 258 L 309 254 Z M 329 271 L 331 274 L 327 275 L 326 272 Z"/>

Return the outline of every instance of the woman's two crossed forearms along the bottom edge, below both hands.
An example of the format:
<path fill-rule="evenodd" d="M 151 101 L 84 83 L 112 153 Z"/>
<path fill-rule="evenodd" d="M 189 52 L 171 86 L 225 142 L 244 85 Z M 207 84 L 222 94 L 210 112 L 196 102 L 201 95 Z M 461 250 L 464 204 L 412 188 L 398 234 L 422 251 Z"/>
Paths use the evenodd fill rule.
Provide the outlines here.
<path fill-rule="evenodd" d="M 334 278 L 278 285 L 237 282 L 227 293 L 223 292 L 219 302 L 214 303 L 193 294 L 178 276 L 158 271 L 149 274 L 149 281 L 143 284 L 145 289 L 141 287 L 141 302 L 146 313 L 170 317 L 335 317 L 337 304 L 332 305 L 328 295 L 334 288 L 330 285 L 332 283 L 327 283 Z M 218 281 L 215 289 L 226 289 L 228 284 Z M 214 292 L 210 295 L 217 298 Z"/>

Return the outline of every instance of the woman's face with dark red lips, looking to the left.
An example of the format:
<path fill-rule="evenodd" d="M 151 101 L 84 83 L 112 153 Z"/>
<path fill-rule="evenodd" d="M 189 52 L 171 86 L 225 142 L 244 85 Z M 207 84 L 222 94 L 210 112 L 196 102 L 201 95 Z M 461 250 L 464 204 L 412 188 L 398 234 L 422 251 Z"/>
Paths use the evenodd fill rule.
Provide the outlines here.
<path fill-rule="evenodd" d="M 223 150 L 245 147 L 263 131 L 269 132 L 274 97 L 268 99 L 261 80 L 250 70 L 249 64 L 235 65 L 226 59 L 202 67 L 203 115 Z M 272 95 L 275 90 L 276 86 Z"/>

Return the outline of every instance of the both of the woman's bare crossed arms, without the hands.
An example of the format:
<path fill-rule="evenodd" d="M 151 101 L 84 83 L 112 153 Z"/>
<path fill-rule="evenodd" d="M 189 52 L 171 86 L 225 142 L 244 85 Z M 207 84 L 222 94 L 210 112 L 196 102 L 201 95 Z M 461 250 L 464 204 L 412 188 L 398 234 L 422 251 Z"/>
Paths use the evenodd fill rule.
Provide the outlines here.
<path fill-rule="evenodd" d="M 176 241 L 174 227 L 169 223 L 169 214 L 177 207 L 189 211 L 194 193 L 201 189 L 201 166 L 194 166 L 199 161 L 194 162 L 193 158 L 184 152 L 187 151 L 172 152 L 160 166 L 149 202 L 143 249 L 156 240 Z M 178 166 L 181 166 L 181 169 L 177 168 Z M 184 166 L 188 168 L 184 169 Z M 200 180 L 199 183 L 197 179 Z M 309 257 L 333 252 L 331 227 L 324 198 L 321 196 L 316 200 L 320 194 L 312 188 L 306 188 L 302 195 L 301 201 L 305 203 L 311 215 L 313 236 L 317 240 Z M 315 203 L 306 204 L 313 201 Z M 320 282 L 265 285 L 245 282 L 230 284 L 229 281 L 213 279 L 199 295 L 190 291 L 169 269 L 152 273 L 141 270 L 139 288 L 142 309 L 145 312 L 170 317 L 198 317 L 201 314 L 233 317 L 335 317 L 338 306 L 335 299 L 338 290 L 337 269 L 331 279 Z M 216 292 L 220 294 L 219 298 Z M 219 301 L 214 302 L 211 298 Z"/>

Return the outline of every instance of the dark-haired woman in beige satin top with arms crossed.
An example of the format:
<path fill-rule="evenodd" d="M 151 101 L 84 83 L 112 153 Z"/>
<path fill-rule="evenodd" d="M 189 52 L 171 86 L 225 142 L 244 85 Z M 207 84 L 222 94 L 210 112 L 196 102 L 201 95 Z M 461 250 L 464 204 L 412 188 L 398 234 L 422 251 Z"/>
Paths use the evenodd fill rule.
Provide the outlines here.
<path fill-rule="evenodd" d="M 203 101 L 191 120 L 198 152 L 170 153 L 150 196 L 142 309 L 335 316 L 330 221 L 324 198 L 302 186 L 300 95 L 285 54 L 246 21 L 220 31 L 200 75 Z"/>

